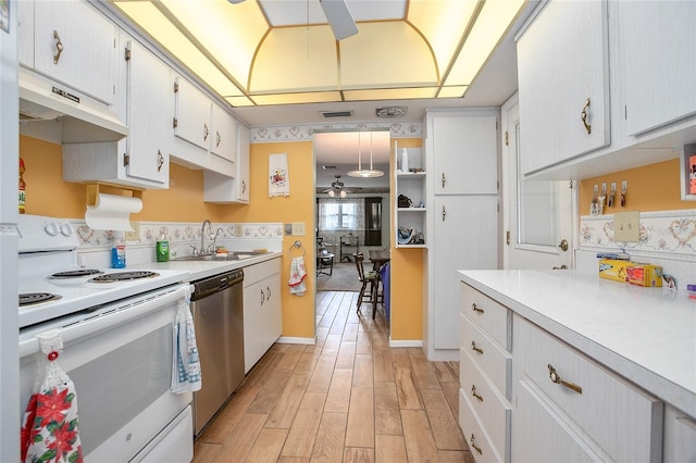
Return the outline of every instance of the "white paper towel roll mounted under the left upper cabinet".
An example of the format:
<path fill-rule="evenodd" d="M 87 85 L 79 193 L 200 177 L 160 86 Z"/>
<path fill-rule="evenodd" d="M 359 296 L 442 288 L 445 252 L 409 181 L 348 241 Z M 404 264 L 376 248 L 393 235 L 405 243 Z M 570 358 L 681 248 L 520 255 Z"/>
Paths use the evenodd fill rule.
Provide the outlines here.
<path fill-rule="evenodd" d="M 85 222 L 96 230 L 134 232 L 130 227 L 130 214 L 140 212 L 141 209 L 140 198 L 99 193 L 96 204 L 87 205 Z"/>

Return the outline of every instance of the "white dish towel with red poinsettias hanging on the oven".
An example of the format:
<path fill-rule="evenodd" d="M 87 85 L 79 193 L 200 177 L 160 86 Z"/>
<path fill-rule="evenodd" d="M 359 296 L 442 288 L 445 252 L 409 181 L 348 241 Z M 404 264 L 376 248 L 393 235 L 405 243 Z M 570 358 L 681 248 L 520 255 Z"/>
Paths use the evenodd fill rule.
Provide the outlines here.
<path fill-rule="evenodd" d="M 75 385 L 55 362 L 63 349 L 63 339 L 57 329 L 37 338 L 41 372 L 24 413 L 22 461 L 82 463 Z"/>

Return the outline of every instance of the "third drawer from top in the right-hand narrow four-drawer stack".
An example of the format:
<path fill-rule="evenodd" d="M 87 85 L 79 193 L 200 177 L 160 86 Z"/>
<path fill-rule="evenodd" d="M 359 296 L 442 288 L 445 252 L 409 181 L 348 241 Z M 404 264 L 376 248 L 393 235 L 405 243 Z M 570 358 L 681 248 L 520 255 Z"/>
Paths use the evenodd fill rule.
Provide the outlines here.
<path fill-rule="evenodd" d="M 460 379 L 461 392 L 468 397 L 468 406 L 476 414 L 497 453 L 505 455 L 509 448 L 510 404 L 490 384 L 481 371 L 473 354 L 461 349 Z"/>

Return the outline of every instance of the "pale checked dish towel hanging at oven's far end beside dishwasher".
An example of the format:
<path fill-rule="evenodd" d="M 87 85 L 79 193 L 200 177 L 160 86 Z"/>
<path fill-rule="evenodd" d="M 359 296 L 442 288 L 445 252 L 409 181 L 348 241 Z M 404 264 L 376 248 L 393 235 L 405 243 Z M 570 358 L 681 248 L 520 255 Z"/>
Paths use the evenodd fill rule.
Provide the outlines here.
<path fill-rule="evenodd" d="M 172 392 L 195 392 L 201 388 L 200 359 L 196 345 L 196 327 L 191 315 L 192 286 L 185 289 L 184 300 L 178 301 L 174 322 L 174 360 L 172 365 Z"/>

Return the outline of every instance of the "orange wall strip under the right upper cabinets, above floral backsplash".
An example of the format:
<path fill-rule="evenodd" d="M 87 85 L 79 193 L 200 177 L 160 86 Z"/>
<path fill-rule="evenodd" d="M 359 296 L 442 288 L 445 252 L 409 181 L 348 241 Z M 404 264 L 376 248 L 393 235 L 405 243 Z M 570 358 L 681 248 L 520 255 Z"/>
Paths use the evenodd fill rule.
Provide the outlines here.
<path fill-rule="evenodd" d="M 626 205 L 619 205 L 621 182 L 627 182 Z M 680 160 L 672 159 L 657 164 L 631 168 L 599 177 L 586 178 L 580 183 L 580 215 L 589 215 L 589 203 L 594 185 L 599 188 L 607 183 L 607 190 L 611 183 L 617 183 L 616 207 L 605 208 L 605 214 L 622 211 L 676 211 L 693 209 L 694 201 L 682 201 L 680 193 Z"/>

